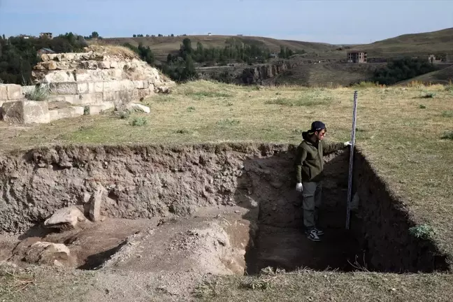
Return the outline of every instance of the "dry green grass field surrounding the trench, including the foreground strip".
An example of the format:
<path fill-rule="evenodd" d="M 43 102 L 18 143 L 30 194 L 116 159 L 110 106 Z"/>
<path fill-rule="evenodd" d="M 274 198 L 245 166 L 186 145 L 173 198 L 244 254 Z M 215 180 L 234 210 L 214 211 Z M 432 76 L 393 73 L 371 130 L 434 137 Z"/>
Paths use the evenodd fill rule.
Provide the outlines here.
<path fill-rule="evenodd" d="M 368 86 L 368 87 L 367 87 Z M 357 145 L 377 173 L 428 224 L 453 259 L 453 90 L 450 86 L 356 88 Z M 350 139 L 354 88 L 243 87 L 189 82 L 143 101 L 151 113 L 106 113 L 52 124 L 0 123 L 3 152 L 61 144 L 166 144 L 301 141 L 312 120 L 327 138 Z M 134 122 L 135 121 L 135 122 Z M 139 121 L 139 122 L 137 122 Z M 135 124 L 135 125 L 134 125 Z M 215 278 L 199 287 L 206 301 L 452 301 L 452 275 L 301 271 Z M 268 289 L 250 289 L 268 287 Z M 20 301 L 20 300 L 17 300 Z"/>

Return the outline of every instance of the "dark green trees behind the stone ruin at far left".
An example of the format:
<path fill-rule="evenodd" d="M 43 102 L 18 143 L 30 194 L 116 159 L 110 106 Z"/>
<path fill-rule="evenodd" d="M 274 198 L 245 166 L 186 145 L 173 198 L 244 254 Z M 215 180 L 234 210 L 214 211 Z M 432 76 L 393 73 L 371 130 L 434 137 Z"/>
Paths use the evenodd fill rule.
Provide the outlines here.
<path fill-rule="evenodd" d="M 0 82 L 29 84 L 31 71 L 38 64 L 36 52 L 50 48 L 55 52 L 82 52 L 87 46 L 85 38 L 72 32 L 55 38 L 0 37 Z"/>

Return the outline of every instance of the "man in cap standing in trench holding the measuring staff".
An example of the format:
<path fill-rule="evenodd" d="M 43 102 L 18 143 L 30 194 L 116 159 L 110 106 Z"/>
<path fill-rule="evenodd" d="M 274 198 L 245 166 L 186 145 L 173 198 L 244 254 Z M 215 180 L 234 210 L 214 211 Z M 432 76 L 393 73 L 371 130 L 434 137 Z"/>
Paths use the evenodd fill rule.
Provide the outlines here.
<path fill-rule="evenodd" d="M 317 226 L 322 203 L 323 156 L 350 145 L 349 141 L 326 143 L 326 131 L 323 122 L 312 122 L 311 129 L 302 133 L 303 141 L 296 154 L 296 191 L 302 192 L 303 225 L 307 238 L 312 241 L 320 241 L 319 236 L 324 235 L 324 231 Z"/>

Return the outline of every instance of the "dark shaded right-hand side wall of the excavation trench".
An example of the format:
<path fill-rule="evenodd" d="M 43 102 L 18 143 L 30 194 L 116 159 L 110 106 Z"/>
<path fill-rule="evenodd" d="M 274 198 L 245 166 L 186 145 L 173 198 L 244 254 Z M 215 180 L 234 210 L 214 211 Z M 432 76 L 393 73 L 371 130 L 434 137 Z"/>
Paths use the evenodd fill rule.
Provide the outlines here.
<path fill-rule="evenodd" d="M 410 235 L 415 223 L 388 184 L 358 151 L 354 155 L 354 192 L 359 196 L 359 220 L 352 222 L 368 264 L 375 271 L 396 273 L 449 270 L 447 257 L 436 243 Z"/>

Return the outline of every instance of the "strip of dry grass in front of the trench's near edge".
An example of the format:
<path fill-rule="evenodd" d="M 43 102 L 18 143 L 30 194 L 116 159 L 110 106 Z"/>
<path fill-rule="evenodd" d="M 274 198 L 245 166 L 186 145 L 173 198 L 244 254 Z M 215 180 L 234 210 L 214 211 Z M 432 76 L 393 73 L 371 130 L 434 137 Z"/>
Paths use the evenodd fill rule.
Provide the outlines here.
<path fill-rule="evenodd" d="M 261 276 L 215 280 L 215 294 L 203 292 L 202 301 L 452 301 L 453 275 L 335 273 L 300 270 L 276 273 L 271 285 Z M 214 282 L 214 281 L 212 281 Z"/>

